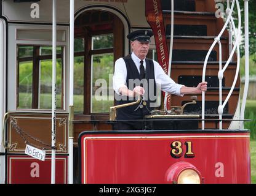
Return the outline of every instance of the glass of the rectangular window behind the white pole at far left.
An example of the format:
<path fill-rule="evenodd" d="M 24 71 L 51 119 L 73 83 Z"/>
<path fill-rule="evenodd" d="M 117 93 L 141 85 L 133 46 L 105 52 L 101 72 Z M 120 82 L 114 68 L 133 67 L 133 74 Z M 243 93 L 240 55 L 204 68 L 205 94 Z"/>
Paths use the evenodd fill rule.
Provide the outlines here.
<path fill-rule="evenodd" d="M 17 108 L 52 107 L 52 47 L 17 45 Z M 63 109 L 63 47 L 57 47 L 57 109 Z"/>

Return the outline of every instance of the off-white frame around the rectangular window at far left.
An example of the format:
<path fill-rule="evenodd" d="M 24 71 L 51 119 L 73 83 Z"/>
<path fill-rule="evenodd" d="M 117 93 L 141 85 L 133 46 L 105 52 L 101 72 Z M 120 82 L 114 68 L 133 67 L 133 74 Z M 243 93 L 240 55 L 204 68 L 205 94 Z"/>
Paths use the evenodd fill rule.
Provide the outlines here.
<path fill-rule="evenodd" d="M 52 45 L 52 41 L 45 40 L 17 40 L 16 33 L 17 29 L 33 29 L 41 30 L 41 31 L 49 31 L 52 29 L 50 25 L 15 25 L 9 24 L 8 31 L 8 111 L 9 112 L 24 112 L 24 113 L 51 113 L 51 110 L 44 109 L 19 109 L 16 107 L 16 97 L 17 97 L 17 44 L 23 45 Z M 60 47 L 64 47 L 63 52 L 63 110 L 57 110 L 57 113 L 68 113 L 68 93 L 69 89 L 66 88 L 69 84 L 69 28 L 68 26 L 57 26 L 58 31 L 65 31 L 65 42 L 57 42 L 57 45 Z"/>

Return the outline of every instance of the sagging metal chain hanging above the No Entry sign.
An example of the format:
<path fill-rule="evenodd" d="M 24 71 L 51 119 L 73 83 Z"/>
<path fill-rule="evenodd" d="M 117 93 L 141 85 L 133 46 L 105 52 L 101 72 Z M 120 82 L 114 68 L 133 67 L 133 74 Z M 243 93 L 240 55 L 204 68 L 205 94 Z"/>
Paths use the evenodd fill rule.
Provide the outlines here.
<path fill-rule="evenodd" d="M 31 138 L 32 140 L 40 143 L 42 146 L 38 146 L 38 145 L 31 145 L 34 146 L 36 148 L 40 148 L 40 149 L 52 149 L 52 146 L 49 145 L 48 143 L 39 140 L 38 138 L 33 137 L 32 135 L 28 134 L 27 132 L 25 132 L 22 128 L 18 127 L 18 124 L 15 123 L 15 118 L 13 116 L 10 116 L 10 125 L 14 128 L 14 130 L 20 134 L 20 137 L 22 137 L 22 139 L 24 140 L 25 144 L 31 145 L 30 141 L 27 140 L 27 138 Z"/>

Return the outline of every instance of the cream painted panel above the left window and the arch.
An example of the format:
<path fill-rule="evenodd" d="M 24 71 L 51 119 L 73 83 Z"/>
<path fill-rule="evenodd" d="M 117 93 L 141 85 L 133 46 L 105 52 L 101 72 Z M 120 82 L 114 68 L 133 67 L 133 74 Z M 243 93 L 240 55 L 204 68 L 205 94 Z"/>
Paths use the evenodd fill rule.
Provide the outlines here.
<path fill-rule="evenodd" d="M 113 9 L 118 9 L 132 23 L 132 27 L 148 27 L 145 18 L 145 1 L 143 0 L 127 0 L 127 2 L 115 2 L 115 0 L 95 1 L 95 0 L 75 0 L 74 9 L 75 13 L 79 12 L 82 8 L 89 6 L 108 6 Z M 30 13 L 33 9 L 30 8 L 32 2 L 14 2 L 13 0 L 2 1 L 2 14 L 8 21 L 17 22 L 32 22 L 32 23 L 51 23 L 52 22 L 52 0 L 44 0 L 36 2 L 39 4 L 39 18 L 31 18 Z M 125 7 L 125 9 L 124 9 Z M 68 24 L 70 14 L 70 1 L 58 0 L 57 1 L 57 23 Z"/>

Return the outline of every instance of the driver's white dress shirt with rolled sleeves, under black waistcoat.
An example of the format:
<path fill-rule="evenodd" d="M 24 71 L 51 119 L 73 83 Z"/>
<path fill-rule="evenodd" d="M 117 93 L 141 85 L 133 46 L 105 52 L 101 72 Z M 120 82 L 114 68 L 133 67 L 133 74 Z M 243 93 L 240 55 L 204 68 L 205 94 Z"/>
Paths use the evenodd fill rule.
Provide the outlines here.
<path fill-rule="evenodd" d="M 132 53 L 132 60 L 135 63 L 135 66 L 138 69 L 138 73 L 140 73 L 140 58 L 138 58 L 134 53 Z M 183 96 L 180 94 L 180 89 L 184 85 L 179 85 L 175 83 L 172 78 L 164 73 L 164 70 L 159 65 L 158 62 L 154 61 L 154 78 L 156 80 L 156 85 L 160 86 L 161 90 L 164 92 L 169 92 L 170 94 L 175 94 L 177 96 Z M 143 66 L 146 70 L 146 61 L 143 59 Z M 119 94 L 119 88 L 126 86 L 126 77 L 127 77 L 127 70 L 126 70 L 126 62 L 124 62 L 123 58 L 119 58 L 116 60 L 114 64 L 114 76 L 113 76 L 113 89 L 114 91 Z"/>

